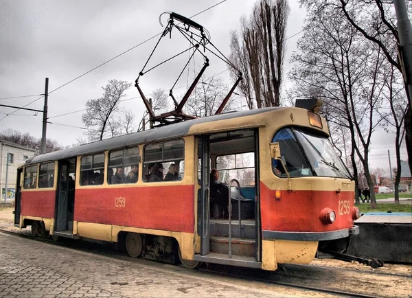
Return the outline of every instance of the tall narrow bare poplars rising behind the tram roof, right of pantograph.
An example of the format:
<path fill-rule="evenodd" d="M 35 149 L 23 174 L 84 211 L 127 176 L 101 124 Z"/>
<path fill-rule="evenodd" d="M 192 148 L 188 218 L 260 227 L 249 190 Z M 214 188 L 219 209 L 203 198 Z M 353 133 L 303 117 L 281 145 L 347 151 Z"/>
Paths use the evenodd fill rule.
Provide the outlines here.
<path fill-rule="evenodd" d="M 289 13 L 288 0 L 260 0 L 249 21 L 240 19 L 240 35 L 231 32 L 230 58 L 243 73 L 238 89 L 249 108 L 280 105 Z M 236 80 L 238 73 L 231 70 L 231 76 Z"/>

